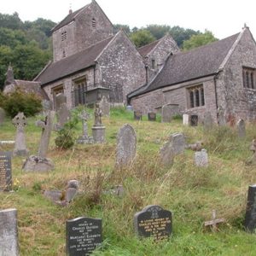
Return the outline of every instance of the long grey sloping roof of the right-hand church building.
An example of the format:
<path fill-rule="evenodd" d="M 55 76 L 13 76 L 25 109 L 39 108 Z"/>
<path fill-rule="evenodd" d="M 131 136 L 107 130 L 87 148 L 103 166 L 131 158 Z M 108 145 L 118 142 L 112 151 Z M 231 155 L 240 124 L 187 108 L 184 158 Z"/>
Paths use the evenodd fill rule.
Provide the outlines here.
<path fill-rule="evenodd" d="M 170 55 L 160 73 L 149 83 L 131 92 L 129 98 L 218 73 L 240 33 L 189 51 Z"/>

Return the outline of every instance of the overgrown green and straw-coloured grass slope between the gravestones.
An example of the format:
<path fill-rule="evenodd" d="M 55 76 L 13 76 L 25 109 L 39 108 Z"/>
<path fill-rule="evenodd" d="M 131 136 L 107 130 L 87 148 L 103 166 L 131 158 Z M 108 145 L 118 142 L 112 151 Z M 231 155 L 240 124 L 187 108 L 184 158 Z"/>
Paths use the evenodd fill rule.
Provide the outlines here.
<path fill-rule="evenodd" d="M 26 143 L 37 154 L 41 130 L 28 119 Z M 133 120 L 133 113 L 114 108 L 102 119 L 107 143 L 75 145 L 68 150 L 55 148 L 53 131 L 48 157 L 55 163 L 49 173 L 21 171 L 22 158 L 13 159 L 13 180 L 19 183 L 13 193 L 0 193 L 1 208 L 18 209 L 20 255 L 65 255 L 65 223 L 69 218 L 102 218 L 103 244 L 94 255 L 255 255 L 256 236 L 243 229 L 247 187 L 255 183 L 256 167 L 246 165 L 250 143 L 256 138 L 253 125 L 247 137 L 239 139 L 236 130 L 201 126 L 184 127 L 181 119 L 172 123 Z M 115 143 L 119 128 L 131 124 L 137 132 L 136 160 L 115 169 Z M 89 131 L 93 125 L 89 120 Z M 194 165 L 194 152 L 177 155 L 173 166 L 159 164 L 159 150 L 174 132 L 183 132 L 189 143 L 202 141 L 209 154 L 209 166 Z M 75 131 L 82 132 L 82 125 Z M 6 119 L 0 139 L 15 139 L 15 127 Z M 0 146 L 11 150 L 11 146 Z M 64 189 L 69 179 L 78 179 L 80 193 L 68 207 L 59 207 L 42 195 L 45 189 Z M 122 185 L 124 195 L 109 193 Z M 173 234 L 169 241 L 155 244 L 138 239 L 133 216 L 147 205 L 157 204 L 173 214 Z M 204 221 L 225 218 L 219 230 L 205 229 Z"/>

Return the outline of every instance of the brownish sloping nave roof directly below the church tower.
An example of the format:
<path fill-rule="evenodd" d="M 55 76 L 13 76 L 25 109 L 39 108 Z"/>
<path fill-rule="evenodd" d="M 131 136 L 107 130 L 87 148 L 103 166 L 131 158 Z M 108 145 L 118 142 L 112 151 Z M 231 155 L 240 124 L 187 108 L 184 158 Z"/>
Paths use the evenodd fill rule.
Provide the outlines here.
<path fill-rule="evenodd" d="M 42 73 L 38 75 L 36 81 L 42 85 L 49 84 L 58 79 L 64 78 L 67 75 L 77 73 L 87 67 L 96 65 L 95 60 L 102 50 L 108 45 L 113 37 L 102 40 L 97 44 L 71 55 L 61 61 L 52 62 L 46 67 Z"/>

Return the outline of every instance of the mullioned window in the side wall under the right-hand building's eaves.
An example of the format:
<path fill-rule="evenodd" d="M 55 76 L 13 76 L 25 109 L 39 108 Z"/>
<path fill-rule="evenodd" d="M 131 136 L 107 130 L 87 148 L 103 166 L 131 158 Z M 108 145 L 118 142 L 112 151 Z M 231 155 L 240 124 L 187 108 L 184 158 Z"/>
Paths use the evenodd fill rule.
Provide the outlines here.
<path fill-rule="evenodd" d="M 188 108 L 197 108 L 205 105 L 203 84 L 188 89 Z"/>

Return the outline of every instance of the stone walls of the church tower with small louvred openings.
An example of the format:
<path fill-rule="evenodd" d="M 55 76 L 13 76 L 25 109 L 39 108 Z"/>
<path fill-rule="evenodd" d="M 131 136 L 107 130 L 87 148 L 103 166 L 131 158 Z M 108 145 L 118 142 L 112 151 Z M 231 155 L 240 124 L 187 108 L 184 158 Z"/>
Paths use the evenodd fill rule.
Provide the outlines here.
<path fill-rule="evenodd" d="M 95 19 L 96 26 L 92 26 L 92 19 Z M 63 32 L 67 33 L 67 39 L 62 40 Z M 54 61 L 60 61 L 112 35 L 112 23 L 98 4 L 92 1 L 75 20 L 53 33 Z"/>

